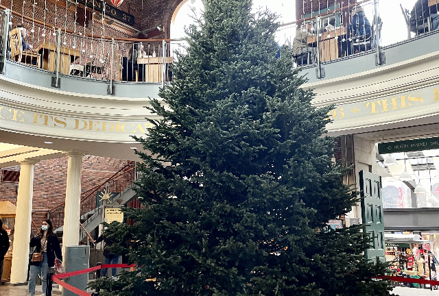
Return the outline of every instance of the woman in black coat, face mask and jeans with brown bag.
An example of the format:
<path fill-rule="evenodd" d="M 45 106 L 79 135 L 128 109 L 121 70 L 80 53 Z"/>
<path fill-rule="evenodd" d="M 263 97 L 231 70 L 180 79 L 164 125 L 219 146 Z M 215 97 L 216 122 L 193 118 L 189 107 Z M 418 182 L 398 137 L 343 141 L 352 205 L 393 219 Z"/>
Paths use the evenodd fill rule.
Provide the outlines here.
<path fill-rule="evenodd" d="M 54 234 L 54 227 L 49 219 L 41 223 L 40 233 L 30 240 L 30 247 L 35 247 L 34 253 L 43 252 L 43 260 L 30 262 L 29 296 L 35 295 L 35 280 L 39 272 L 43 282 L 43 295 L 46 295 L 49 268 L 54 267 L 55 256 L 62 260 L 60 243 L 58 237 Z"/>

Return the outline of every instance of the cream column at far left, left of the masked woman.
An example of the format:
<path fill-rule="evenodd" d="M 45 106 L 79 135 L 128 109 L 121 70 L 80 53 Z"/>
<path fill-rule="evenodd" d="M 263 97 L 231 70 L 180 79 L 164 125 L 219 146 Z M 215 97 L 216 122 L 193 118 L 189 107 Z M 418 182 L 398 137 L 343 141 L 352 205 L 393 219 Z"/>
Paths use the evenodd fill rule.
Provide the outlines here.
<path fill-rule="evenodd" d="M 34 192 L 34 164 L 39 160 L 20 162 L 19 193 L 16 197 L 14 245 L 12 249 L 11 284 L 27 280 L 29 240 L 32 223 L 32 197 Z"/>

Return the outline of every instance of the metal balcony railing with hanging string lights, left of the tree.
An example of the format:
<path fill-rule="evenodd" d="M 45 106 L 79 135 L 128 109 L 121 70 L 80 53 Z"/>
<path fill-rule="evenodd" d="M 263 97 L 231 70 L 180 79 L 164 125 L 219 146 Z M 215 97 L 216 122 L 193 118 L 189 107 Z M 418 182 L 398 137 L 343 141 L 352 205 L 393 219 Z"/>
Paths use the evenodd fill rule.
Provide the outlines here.
<path fill-rule="evenodd" d="M 100 27 L 95 34 L 86 34 L 85 30 L 71 31 L 34 18 L 20 20 L 10 15 L 10 10 L 1 12 L 0 21 L 8 60 L 54 73 L 55 87 L 60 74 L 110 85 L 114 81 L 164 85 L 171 79 L 169 64 L 180 47 L 180 42 L 172 40 L 109 38 Z"/>

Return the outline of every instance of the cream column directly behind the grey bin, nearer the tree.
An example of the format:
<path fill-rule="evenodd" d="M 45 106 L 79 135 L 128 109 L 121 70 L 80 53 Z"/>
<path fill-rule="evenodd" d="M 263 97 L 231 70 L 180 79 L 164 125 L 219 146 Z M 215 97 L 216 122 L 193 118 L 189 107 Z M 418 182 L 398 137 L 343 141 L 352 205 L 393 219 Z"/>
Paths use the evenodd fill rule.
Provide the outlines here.
<path fill-rule="evenodd" d="M 66 205 L 62 227 L 62 256 L 66 247 L 78 245 L 80 237 L 81 171 L 84 151 L 64 151 L 67 155 Z"/>

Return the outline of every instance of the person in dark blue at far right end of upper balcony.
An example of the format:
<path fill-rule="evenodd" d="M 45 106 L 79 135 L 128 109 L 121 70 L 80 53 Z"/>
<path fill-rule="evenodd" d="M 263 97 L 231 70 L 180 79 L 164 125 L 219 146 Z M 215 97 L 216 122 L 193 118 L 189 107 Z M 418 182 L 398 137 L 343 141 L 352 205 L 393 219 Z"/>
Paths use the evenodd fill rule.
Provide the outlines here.
<path fill-rule="evenodd" d="M 430 22 L 430 27 L 428 26 Z M 418 0 L 410 12 L 410 31 L 423 34 L 434 31 L 439 27 L 438 10 L 436 5 L 429 6 L 428 0 Z"/>

